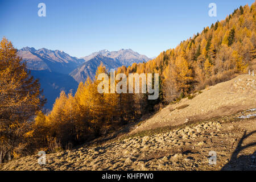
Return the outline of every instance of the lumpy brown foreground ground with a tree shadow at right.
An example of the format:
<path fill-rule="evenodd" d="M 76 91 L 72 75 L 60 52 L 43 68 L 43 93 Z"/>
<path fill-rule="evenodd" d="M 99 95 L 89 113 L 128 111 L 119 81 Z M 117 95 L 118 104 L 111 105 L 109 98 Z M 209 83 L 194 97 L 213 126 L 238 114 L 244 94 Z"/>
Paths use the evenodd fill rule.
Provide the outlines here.
<path fill-rule="evenodd" d="M 164 133 L 138 134 L 100 146 L 46 154 L 45 165 L 38 164 L 38 155 L 27 156 L 2 164 L 0 169 L 256 170 L 255 114 L 252 109 L 229 117 L 187 123 Z M 210 151 L 216 152 L 216 164 L 209 164 Z"/>

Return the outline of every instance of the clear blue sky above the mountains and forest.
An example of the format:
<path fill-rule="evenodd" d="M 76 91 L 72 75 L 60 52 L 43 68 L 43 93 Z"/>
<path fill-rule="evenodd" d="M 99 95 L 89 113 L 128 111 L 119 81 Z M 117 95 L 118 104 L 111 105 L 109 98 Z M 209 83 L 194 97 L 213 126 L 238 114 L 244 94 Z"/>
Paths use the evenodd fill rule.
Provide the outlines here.
<path fill-rule="evenodd" d="M 38 4 L 46 4 L 46 17 Z M 217 17 L 208 15 L 216 3 Z M 175 48 L 204 27 L 254 0 L 0 0 L 0 38 L 18 49 L 59 49 L 82 57 L 131 48 L 148 57 Z"/>

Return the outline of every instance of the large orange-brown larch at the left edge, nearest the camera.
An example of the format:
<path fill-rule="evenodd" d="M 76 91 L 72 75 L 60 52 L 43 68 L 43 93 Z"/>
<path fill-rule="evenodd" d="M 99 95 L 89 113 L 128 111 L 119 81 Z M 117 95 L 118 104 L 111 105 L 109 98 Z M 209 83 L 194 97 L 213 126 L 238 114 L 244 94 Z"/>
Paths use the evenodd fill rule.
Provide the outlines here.
<path fill-rule="evenodd" d="M 45 103 L 38 80 L 6 38 L 0 43 L 0 162 L 23 154 L 30 121 Z"/>

